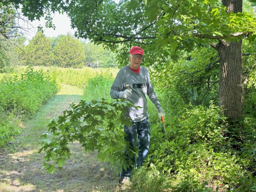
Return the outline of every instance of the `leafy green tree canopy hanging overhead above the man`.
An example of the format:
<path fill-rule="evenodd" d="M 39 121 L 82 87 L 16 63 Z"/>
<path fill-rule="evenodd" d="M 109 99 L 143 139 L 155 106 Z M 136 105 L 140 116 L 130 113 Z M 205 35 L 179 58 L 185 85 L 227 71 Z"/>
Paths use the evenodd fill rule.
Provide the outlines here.
<path fill-rule="evenodd" d="M 251 0 L 253 1 L 253 0 Z M 123 45 L 139 45 L 146 54 L 157 54 L 159 61 L 194 46 L 214 45 L 218 39 L 249 40 L 255 37 L 255 18 L 246 12 L 227 13 L 217 0 L 11 0 L 29 19 L 47 12 L 67 12 L 76 36 L 102 43 L 116 50 Z M 51 26 L 50 14 L 46 15 Z M 151 59 L 151 64 L 154 59 Z"/>

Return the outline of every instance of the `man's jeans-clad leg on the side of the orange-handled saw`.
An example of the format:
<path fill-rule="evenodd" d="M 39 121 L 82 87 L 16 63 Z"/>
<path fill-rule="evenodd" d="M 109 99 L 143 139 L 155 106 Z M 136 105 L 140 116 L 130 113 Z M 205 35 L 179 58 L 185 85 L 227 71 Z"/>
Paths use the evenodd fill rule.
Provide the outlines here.
<path fill-rule="evenodd" d="M 137 166 L 142 165 L 143 161 L 146 159 L 149 150 L 149 142 L 150 142 L 150 125 L 148 118 L 144 119 L 138 125 L 138 138 L 139 138 L 139 146 L 137 157 Z"/>

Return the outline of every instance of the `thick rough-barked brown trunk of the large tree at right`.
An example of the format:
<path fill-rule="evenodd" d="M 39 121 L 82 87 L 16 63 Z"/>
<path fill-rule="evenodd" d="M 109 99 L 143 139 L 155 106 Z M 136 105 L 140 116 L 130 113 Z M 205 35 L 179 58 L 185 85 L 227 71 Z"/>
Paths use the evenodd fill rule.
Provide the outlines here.
<path fill-rule="evenodd" d="M 242 12 L 242 0 L 222 0 L 227 12 Z M 219 106 L 224 115 L 232 119 L 239 119 L 243 114 L 242 88 L 242 40 L 226 42 L 219 40 L 216 50 L 220 55 Z"/>

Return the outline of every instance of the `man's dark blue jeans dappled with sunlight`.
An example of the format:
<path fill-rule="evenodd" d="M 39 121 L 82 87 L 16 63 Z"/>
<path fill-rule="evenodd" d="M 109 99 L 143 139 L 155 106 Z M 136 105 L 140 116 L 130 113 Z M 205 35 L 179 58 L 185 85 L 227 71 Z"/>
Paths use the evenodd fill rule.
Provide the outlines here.
<path fill-rule="evenodd" d="M 140 121 L 140 122 L 132 122 L 132 125 L 127 127 L 124 126 L 124 132 L 127 134 L 127 136 L 124 138 L 125 141 L 128 141 L 130 144 L 130 149 L 132 150 L 133 147 L 137 146 L 137 134 L 139 139 L 139 152 L 137 155 L 137 166 L 142 165 L 143 161 L 148 155 L 149 150 L 149 142 L 150 142 L 150 125 L 148 118 Z M 127 161 L 131 160 L 132 164 L 135 164 L 135 155 L 129 156 L 126 151 L 124 151 L 126 157 L 128 158 Z M 129 178 L 131 175 L 132 166 L 127 167 L 125 170 L 122 167 L 122 171 L 120 173 L 120 176 L 123 178 Z"/>

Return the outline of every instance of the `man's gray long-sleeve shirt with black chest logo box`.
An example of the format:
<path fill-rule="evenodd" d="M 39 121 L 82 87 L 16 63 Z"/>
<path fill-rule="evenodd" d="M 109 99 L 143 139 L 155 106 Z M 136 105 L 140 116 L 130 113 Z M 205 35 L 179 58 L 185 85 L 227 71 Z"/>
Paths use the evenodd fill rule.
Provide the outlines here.
<path fill-rule="evenodd" d="M 138 108 L 138 110 L 134 107 L 127 108 L 128 115 L 133 122 L 139 122 L 148 117 L 146 95 L 148 95 L 157 108 L 161 107 L 154 88 L 150 83 L 148 70 L 145 67 L 140 66 L 139 73 L 133 72 L 128 65 L 121 68 L 111 86 L 111 98 L 119 99 L 119 93 L 126 89 L 127 84 L 132 90 L 132 96 L 128 100 L 135 106 L 142 107 Z"/>

